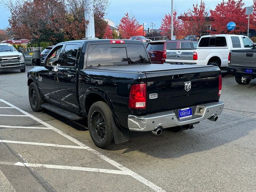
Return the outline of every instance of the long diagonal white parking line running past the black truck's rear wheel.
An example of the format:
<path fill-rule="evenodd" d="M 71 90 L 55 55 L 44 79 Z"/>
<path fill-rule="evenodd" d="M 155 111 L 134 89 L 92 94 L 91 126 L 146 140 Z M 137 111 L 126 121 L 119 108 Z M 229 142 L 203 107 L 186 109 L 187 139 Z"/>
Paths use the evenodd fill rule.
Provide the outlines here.
<path fill-rule="evenodd" d="M 15 108 L 16 110 L 22 112 L 23 114 L 25 114 L 25 116 L 28 116 L 30 118 L 32 118 L 33 120 L 36 120 L 37 122 L 40 122 L 41 124 L 43 124 L 44 126 L 51 128 L 53 131 L 57 132 L 58 134 L 64 136 L 65 138 L 67 138 L 68 140 L 74 142 L 75 144 L 77 144 L 80 147 L 83 147 L 84 149 L 90 151 L 92 154 L 98 156 L 99 158 L 101 158 L 102 160 L 108 162 L 109 164 L 111 164 L 112 166 L 115 166 L 116 168 L 129 173 L 130 176 L 132 176 L 134 179 L 138 180 L 139 182 L 141 182 L 142 184 L 150 187 L 152 190 L 156 191 L 156 192 L 166 192 L 166 190 L 160 188 L 159 186 L 157 186 L 156 184 L 150 182 L 149 180 L 145 179 L 144 177 L 140 176 L 139 174 L 133 172 L 132 170 L 126 168 L 125 166 L 122 166 L 121 164 L 119 164 L 118 162 L 108 158 L 107 156 L 101 154 L 100 152 L 98 152 L 97 150 L 94 150 L 93 148 L 90 148 L 89 146 L 87 146 L 86 144 L 83 144 L 82 142 L 76 140 L 75 138 L 69 136 L 68 134 L 62 132 L 61 130 L 51 126 L 50 124 L 40 120 L 39 118 L 33 116 L 32 114 L 29 114 L 28 112 L 14 106 L 13 104 L 10 104 L 9 102 L 0 99 L 0 101 L 4 102 L 5 104 Z M 5 140 L 2 140 L 2 142 L 4 142 Z M 11 141 L 10 141 L 11 142 Z M 14 142 L 14 141 L 12 141 Z M 55 145 L 55 144 L 51 144 L 51 145 Z M 60 146 L 60 145 L 59 145 Z M 76 147 L 76 146 L 74 146 Z"/>

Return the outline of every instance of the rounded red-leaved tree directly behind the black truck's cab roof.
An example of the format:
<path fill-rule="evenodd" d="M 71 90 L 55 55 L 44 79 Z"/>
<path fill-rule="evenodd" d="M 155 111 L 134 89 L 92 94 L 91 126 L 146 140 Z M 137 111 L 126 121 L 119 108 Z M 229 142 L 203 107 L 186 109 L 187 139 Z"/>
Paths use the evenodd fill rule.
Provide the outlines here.
<path fill-rule="evenodd" d="M 142 25 L 136 20 L 133 15 L 126 13 L 120 20 L 118 29 L 122 38 L 128 39 L 131 36 L 142 35 Z"/>

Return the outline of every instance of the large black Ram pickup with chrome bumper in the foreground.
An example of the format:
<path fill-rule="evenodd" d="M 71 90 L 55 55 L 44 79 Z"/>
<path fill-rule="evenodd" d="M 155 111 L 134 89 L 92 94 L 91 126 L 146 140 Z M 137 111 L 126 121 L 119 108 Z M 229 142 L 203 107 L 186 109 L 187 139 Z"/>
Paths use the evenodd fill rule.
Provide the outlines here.
<path fill-rule="evenodd" d="M 60 54 L 56 54 L 56 53 Z M 34 111 L 88 118 L 96 146 L 129 139 L 129 131 L 193 128 L 216 121 L 222 77 L 216 66 L 151 64 L 136 40 L 77 40 L 57 44 L 28 72 Z"/>

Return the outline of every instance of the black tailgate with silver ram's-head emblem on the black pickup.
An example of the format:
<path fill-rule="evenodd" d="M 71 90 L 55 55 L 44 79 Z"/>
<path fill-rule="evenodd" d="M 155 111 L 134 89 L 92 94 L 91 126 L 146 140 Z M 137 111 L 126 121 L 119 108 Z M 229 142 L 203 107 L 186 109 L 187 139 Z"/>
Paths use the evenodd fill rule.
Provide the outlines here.
<path fill-rule="evenodd" d="M 219 100 L 220 70 L 218 67 L 196 68 L 193 66 L 193 68 L 145 73 L 148 95 L 147 114 Z"/>

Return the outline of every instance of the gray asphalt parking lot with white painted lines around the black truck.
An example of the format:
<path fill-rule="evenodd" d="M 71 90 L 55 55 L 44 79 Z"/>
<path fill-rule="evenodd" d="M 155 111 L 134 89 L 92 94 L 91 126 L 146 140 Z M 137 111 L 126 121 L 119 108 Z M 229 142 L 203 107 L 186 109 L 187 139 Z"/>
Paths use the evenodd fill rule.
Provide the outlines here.
<path fill-rule="evenodd" d="M 256 80 L 223 77 L 217 122 L 131 132 L 110 150 L 93 144 L 82 121 L 33 112 L 26 80 L 0 72 L 0 192 L 256 191 Z"/>

